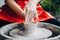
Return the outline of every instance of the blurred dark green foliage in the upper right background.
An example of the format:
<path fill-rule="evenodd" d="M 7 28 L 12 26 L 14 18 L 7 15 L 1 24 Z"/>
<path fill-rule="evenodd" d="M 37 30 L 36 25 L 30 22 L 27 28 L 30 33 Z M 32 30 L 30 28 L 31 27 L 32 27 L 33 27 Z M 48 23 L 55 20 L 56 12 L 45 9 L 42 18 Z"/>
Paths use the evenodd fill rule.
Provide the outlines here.
<path fill-rule="evenodd" d="M 39 4 L 53 16 L 60 19 L 60 0 L 41 0 Z"/>

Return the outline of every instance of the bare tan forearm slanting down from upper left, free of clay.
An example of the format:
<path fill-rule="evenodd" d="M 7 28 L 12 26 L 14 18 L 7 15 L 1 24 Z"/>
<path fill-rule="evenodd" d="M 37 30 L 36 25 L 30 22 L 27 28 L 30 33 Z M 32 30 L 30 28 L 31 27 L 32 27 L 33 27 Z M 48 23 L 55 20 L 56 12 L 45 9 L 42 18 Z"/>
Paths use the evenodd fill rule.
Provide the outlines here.
<path fill-rule="evenodd" d="M 6 0 L 7 5 L 18 15 L 25 17 L 24 11 L 20 8 L 20 6 L 14 0 Z"/>

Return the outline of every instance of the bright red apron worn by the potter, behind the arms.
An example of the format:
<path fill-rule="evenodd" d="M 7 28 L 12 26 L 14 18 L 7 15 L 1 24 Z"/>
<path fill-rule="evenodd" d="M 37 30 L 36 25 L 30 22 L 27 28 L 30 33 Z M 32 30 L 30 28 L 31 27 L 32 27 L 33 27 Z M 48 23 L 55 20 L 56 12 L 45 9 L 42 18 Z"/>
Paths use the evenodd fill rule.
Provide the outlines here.
<path fill-rule="evenodd" d="M 15 0 L 15 1 L 22 9 L 24 9 L 28 0 Z M 50 18 L 53 18 L 53 16 L 50 15 L 48 12 L 46 12 L 41 7 L 40 4 L 36 5 L 36 10 L 37 10 L 37 14 L 39 15 L 38 21 L 44 21 L 44 20 L 48 20 Z M 14 13 L 6 5 L 0 8 L 0 19 L 3 19 L 5 21 L 9 21 L 9 22 L 24 22 L 25 21 L 21 16 Z M 34 17 L 34 20 L 36 21 L 35 17 Z"/>

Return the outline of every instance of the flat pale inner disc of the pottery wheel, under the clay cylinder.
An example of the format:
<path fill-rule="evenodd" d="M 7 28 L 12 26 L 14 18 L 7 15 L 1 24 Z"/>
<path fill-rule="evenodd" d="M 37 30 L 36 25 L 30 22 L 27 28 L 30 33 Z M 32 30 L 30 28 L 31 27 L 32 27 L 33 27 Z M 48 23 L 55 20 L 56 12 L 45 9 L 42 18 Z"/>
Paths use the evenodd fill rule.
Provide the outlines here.
<path fill-rule="evenodd" d="M 35 34 L 30 34 L 30 35 L 21 35 L 19 34 L 20 30 L 14 29 L 10 32 L 10 35 L 16 38 L 24 38 L 27 40 L 28 39 L 40 39 L 40 38 L 47 38 L 52 35 L 52 32 L 48 29 L 45 28 L 38 28 L 37 32 Z"/>

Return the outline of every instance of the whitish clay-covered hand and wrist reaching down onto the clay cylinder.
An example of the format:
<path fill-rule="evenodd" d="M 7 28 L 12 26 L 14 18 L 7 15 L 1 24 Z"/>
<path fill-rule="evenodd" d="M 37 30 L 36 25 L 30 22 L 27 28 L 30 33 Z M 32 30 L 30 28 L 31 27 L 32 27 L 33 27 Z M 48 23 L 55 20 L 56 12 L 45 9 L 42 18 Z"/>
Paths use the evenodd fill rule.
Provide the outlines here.
<path fill-rule="evenodd" d="M 36 20 L 38 19 L 38 14 L 37 14 L 37 10 L 36 10 L 36 4 L 39 2 L 40 0 L 29 0 L 27 5 L 25 6 L 25 13 L 26 13 L 26 17 L 25 17 L 25 22 L 33 22 L 33 16 L 36 16 Z"/>

